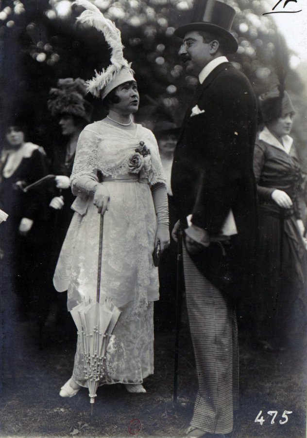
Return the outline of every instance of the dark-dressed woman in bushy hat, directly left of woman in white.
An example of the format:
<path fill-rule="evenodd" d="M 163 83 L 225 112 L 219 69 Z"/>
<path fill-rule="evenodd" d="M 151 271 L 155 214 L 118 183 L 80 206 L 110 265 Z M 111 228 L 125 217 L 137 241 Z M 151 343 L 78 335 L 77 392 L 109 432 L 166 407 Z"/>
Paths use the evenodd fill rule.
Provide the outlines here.
<path fill-rule="evenodd" d="M 51 88 L 48 109 L 53 116 L 59 117 L 63 139 L 55 142 L 51 157 L 51 173 L 55 181 L 50 190 L 49 233 L 50 251 L 48 256 L 48 285 L 46 299 L 41 308 L 43 326 L 50 311 L 51 302 L 56 303 L 56 322 L 66 324 L 67 307 L 64 294 L 57 294 L 52 285 L 52 276 L 61 251 L 70 221 L 73 216 L 69 178 L 75 158 L 79 135 L 90 122 L 91 105 L 85 100 L 85 81 L 80 78 L 59 79 L 57 88 Z"/>

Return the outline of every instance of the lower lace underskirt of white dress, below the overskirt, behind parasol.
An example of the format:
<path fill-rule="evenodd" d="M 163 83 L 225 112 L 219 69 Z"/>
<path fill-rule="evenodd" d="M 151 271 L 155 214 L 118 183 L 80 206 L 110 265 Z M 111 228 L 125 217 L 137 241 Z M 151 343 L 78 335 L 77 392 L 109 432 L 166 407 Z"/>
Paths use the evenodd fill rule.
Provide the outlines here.
<path fill-rule="evenodd" d="M 102 384 L 142 383 L 153 374 L 153 302 L 137 318 L 131 319 L 132 303 L 121 308 L 119 322 L 111 336 Z M 82 343 L 78 336 L 73 379 L 87 387 Z"/>

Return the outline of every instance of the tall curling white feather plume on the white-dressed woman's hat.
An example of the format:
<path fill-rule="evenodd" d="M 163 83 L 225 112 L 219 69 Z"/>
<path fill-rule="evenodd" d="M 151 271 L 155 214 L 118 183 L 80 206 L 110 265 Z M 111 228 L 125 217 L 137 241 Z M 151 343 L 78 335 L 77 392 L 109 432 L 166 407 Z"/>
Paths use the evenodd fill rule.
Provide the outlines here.
<path fill-rule="evenodd" d="M 105 18 L 102 12 L 88 0 L 76 0 L 73 4 L 82 6 L 86 10 L 77 18 L 77 21 L 86 23 L 89 26 L 95 27 L 102 32 L 111 52 L 111 65 L 107 69 L 102 69 L 102 72 L 95 71 L 95 76 L 86 81 L 87 91 L 94 96 L 99 97 L 100 91 L 113 79 L 114 75 L 119 72 L 122 67 L 130 69 L 128 61 L 123 56 L 123 45 L 121 42 L 120 31 L 115 26 L 113 21 Z"/>

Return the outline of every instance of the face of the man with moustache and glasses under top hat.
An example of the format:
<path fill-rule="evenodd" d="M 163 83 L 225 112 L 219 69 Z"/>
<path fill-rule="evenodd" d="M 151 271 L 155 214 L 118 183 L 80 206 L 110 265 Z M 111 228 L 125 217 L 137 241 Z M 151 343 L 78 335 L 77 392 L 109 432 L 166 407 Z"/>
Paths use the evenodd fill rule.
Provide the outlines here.
<path fill-rule="evenodd" d="M 210 55 L 211 43 L 205 43 L 203 37 L 197 32 L 188 32 L 179 49 L 186 71 L 189 74 L 198 76 L 203 68 L 213 59 Z"/>

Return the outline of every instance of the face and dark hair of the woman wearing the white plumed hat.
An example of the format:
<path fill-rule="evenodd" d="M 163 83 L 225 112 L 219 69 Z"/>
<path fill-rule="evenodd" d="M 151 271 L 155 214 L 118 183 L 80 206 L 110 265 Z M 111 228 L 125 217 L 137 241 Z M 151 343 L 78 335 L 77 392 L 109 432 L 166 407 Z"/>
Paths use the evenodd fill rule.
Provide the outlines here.
<path fill-rule="evenodd" d="M 122 115 L 132 114 L 138 110 L 139 94 L 135 81 L 125 82 L 116 88 L 115 94 L 119 97 L 119 103 L 110 105 L 110 110 Z"/>

